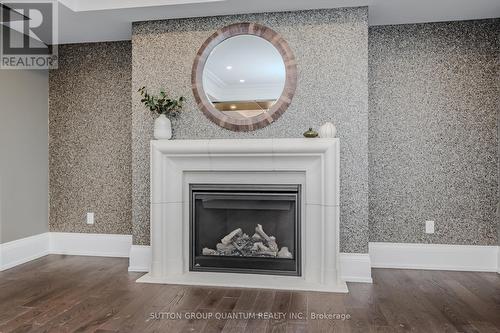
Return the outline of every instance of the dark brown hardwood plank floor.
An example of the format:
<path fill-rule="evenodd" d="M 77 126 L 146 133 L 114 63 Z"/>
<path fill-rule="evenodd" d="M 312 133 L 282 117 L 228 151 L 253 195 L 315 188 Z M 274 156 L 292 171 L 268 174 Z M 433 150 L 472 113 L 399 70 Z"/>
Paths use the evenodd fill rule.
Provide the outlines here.
<path fill-rule="evenodd" d="M 496 273 L 374 269 L 328 294 L 138 284 L 127 265 L 51 255 L 0 272 L 0 332 L 500 332 Z"/>

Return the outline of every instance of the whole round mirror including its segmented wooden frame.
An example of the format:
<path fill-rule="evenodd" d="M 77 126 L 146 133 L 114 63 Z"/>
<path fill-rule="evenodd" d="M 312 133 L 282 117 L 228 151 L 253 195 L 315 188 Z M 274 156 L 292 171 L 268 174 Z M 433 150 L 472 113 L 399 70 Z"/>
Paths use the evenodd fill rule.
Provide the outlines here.
<path fill-rule="evenodd" d="M 191 83 L 208 119 L 232 131 L 253 131 L 271 124 L 289 107 L 297 86 L 297 63 L 274 30 L 237 23 L 203 43 Z"/>

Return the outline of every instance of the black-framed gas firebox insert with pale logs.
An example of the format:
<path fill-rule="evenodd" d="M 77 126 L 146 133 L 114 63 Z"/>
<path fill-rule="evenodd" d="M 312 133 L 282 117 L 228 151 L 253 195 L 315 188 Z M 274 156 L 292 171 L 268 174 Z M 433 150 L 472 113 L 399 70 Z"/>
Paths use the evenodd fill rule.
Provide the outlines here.
<path fill-rule="evenodd" d="M 190 271 L 301 275 L 300 185 L 189 188 Z"/>

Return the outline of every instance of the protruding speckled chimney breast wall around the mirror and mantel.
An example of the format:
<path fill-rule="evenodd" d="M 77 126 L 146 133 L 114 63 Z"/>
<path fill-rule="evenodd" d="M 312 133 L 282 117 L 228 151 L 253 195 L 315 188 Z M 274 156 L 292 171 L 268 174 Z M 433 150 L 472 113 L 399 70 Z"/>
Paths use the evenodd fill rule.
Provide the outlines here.
<path fill-rule="evenodd" d="M 217 29 L 256 22 L 281 34 L 298 62 L 290 108 L 275 123 L 235 133 L 210 122 L 195 105 L 191 67 L 203 42 Z M 325 121 L 341 139 L 341 250 L 368 245 L 368 22 L 367 8 L 140 22 L 132 33 L 132 165 L 134 244 L 149 243 L 149 140 L 151 115 L 136 90 L 160 87 L 188 98 L 174 123 L 176 139 L 301 137 Z"/>

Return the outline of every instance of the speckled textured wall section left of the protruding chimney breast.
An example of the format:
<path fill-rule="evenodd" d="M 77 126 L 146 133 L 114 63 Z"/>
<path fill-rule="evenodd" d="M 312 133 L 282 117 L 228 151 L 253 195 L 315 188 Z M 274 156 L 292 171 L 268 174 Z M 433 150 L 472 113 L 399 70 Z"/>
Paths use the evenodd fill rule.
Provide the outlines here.
<path fill-rule="evenodd" d="M 131 75 L 130 42 L 59 47 L 49 74 L 50 231 L 131 234 Z"/>

